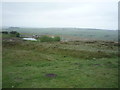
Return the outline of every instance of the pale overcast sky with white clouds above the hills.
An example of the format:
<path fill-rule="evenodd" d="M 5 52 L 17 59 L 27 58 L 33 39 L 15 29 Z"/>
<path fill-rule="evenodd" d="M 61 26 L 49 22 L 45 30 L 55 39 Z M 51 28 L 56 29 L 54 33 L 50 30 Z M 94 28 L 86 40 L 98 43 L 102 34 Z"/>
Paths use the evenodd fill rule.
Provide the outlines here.
<path fill-rule="evenodd" d="M 118 0 L 2 2 L 2 26 L 118 29 Z"/>

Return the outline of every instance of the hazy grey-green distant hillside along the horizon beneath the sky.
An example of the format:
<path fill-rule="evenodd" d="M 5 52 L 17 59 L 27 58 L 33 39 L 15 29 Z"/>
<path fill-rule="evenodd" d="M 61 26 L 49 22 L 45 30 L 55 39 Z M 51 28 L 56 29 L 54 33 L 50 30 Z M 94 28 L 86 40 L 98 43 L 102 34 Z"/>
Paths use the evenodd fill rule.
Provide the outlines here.
<path fill-rule="evenodd" d="M 118 40 L 117 30 L 100 30 L 100 29 L 81 29 L 81 28 L 18 28 L 8 29 L 15 30 L 23 35 L 60 35 L 64 40 Z"/>

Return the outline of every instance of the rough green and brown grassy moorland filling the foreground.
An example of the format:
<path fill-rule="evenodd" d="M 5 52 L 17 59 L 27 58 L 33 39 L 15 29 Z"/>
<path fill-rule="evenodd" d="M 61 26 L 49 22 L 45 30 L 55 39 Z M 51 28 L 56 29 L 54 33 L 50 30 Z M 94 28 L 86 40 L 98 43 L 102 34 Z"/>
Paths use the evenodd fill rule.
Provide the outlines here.
<path fill-rule="evenodd" d="M 3 88 L 117 88 L 117 53 L 104 41 L 3 41 Z"/>

